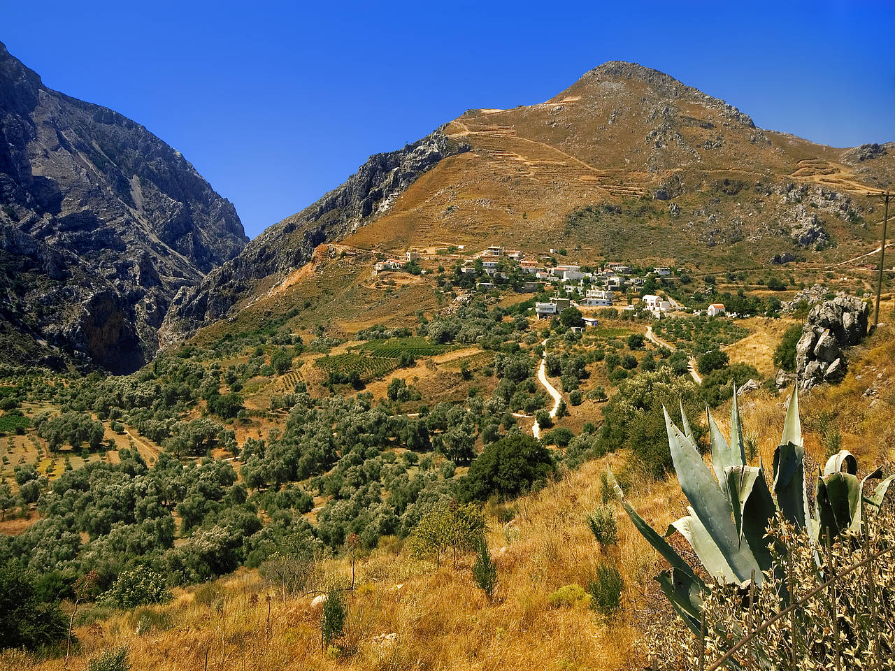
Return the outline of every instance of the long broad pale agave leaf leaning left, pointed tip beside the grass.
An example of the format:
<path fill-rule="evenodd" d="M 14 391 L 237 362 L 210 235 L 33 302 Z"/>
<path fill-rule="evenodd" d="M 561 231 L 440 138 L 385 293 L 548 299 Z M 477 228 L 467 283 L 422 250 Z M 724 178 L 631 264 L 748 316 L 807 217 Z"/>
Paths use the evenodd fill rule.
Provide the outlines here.
<path fill-rule="evenodd" d="M 746 582 L 753 572 L 761 573 L 761 568 L 751 550 L 740 547 L 737 526 L 733 521 L 733 507 L 728 497 L 712 478 L 712 471 L 696 452 L 693 443 L 671 423 L 668 412 L 665 412 L 665 428 L 669 435 L 671 460 L 678 473 L 680 488 L 692 506 L 692 515 L 702 522 L 737 576 L 737 582 Z"/>

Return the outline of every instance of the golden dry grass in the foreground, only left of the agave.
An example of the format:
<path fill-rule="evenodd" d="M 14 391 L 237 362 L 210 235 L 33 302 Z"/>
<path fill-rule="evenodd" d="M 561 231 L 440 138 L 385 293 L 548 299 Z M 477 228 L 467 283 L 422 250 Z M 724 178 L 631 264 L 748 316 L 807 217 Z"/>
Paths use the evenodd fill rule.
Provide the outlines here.
<path fill-rule="evenodd" d="M 618 467 L 618 457 L 612 461 Z M 334 659 L 321 652 L 319 616 L 311 610 L 310 596 L 284 603 L 256 572 L 241 570 L 217 582 L 225 588 L 219 598 L 195 599 L 196 590 L 177 590 L 166 606 L 118 612 L 98 627 L 78 627 L 81 650 L 69 667 L 86 668 L 98 650 L 121 645 L 128 646 L 134 669 L 154 671 L 202 668 L 206 653 L 209 668 L 527 669 L 535 650 L 538 664 L 550 669 L 632 667 L 637 612 L 653 590 L 651 576 L 660 563 L 624 522 L 618 548 L 601 556 L 584 515 L 600 500 L 603 468 L 604 460 L 587 463 L 520 499 L 507 525 L 490 506 L 488 539 L 499 566 L 491 603 L 473 586 L 471 557 L 454 569 L 410 561 L 405 551 L 373 552 L 359 566 L 359 588 L 349 599 L 345 642 L 355 649 L 351 656 Z M 636 501 L 661 527 L 672 511 L 679 512 L 676 496 L 675 488 L 654 483 Z M 607 626 L 587 609 L 550 607 L 552 591 L 573 582 L 586 586 L 604 559 L 617 561 L 626 576 L 626 616 Z M 325 571 L 328 581 L 340 581 L 350 568 L 334 559 Z M 209 589 L 199 588 L 205 594 Z M 396 633 L 394 643 L 375 641 L 388 633 Z M 0 658 L 0 668 L 4 659 L 7 668 L 64 667 L 62 659 Z"/>

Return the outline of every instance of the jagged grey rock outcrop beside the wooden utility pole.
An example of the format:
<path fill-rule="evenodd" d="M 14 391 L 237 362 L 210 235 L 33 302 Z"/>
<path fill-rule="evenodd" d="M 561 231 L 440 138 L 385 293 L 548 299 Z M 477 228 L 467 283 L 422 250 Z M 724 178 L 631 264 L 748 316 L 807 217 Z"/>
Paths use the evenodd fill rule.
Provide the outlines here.
<path fill-rule="evenodd" d="M 845 350 L 866 335 L 868 314 L 867 304 L 854 296 L 837 296 L 812 308 L 796 344 L 796 370 L 803 389 L 838 382 L 845 375 Z"/>

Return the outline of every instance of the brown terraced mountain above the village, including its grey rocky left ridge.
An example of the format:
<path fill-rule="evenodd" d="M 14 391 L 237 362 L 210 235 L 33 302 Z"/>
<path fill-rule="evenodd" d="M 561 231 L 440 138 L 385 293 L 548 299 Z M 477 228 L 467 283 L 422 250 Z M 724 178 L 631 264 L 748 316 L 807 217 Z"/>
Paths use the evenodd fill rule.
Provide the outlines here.
<path fill-rule="evenodd" d="M 895 144 L 833 149 L 766 131 L 668 74 L 610 62 L 544 103 L 469 110 L 402 151 L 372 157 L 184 288 L 161 341 L 174 344 L 259 301 L 321 242 L 382 253 L 562 247 L 584 263 L 703 273 L 848 258 L 876 234 L 878 204 L 865 194 L 893 179 Z"/>

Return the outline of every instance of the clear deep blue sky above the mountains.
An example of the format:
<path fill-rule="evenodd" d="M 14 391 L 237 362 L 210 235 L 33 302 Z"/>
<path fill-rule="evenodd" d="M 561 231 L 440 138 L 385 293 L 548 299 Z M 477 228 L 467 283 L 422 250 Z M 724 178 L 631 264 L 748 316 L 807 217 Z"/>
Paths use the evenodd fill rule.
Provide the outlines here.
<path fill-rule="evenodd" d="M 180 149 L 252 237 L 373 153 L 469 107 L 541 102 L 609 60 L 669 72 L 763 128 L 895 140 L 892 30 L 891 0 L 0 6 L 13 55 Z"/>

